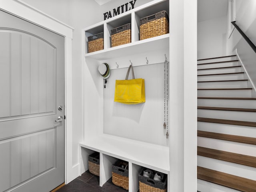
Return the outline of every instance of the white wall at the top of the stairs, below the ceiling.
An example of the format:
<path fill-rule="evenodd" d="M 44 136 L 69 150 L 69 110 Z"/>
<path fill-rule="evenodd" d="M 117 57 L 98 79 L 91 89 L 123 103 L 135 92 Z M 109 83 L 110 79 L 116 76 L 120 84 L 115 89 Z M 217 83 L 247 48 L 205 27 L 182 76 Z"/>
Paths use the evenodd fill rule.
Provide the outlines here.
<path fill-rule="evenodd" d="M 226 56 L 226 16 L 197 23 L 197 57 Z"/>

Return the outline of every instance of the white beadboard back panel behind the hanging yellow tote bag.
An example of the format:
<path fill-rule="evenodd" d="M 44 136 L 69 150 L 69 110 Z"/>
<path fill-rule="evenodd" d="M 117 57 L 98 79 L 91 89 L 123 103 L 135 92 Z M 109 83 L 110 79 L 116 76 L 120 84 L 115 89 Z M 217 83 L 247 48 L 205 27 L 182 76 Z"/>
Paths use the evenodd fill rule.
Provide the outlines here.
<path fill-rule="evenodd" d="M 164 61 L 164 50 L 162 56 Z M 143 104 L 124 105 L 113 102 L 115 80 L 125 79 L 126 72 L 127 68 L 111 70 L 104 89 L 104 133 L 168 146 L 166 130 L 163 129 L 164 62 L 134 67 L 135 78 L 145 80 L 146 102 Z"/>

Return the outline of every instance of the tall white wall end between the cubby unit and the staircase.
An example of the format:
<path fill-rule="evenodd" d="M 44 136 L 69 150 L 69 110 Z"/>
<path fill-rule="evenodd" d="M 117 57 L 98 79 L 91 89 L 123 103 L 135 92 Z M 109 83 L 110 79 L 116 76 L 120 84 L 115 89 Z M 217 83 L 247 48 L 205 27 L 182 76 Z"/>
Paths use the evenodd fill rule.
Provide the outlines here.
<path fill-rule="evenodd" d="M 196 191 L 196 0 L 170 1 L 170 192 Z"/>

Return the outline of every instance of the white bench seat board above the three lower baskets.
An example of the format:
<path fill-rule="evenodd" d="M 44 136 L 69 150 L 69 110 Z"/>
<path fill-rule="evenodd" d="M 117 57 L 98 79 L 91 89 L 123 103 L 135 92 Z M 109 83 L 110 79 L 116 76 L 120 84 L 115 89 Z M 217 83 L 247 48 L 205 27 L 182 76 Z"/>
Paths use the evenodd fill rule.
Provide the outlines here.
<path fill-rule="evenodd" d="M 169 147 L 102 134 L 80 142 L 81 147 L 160 171 L 170 172 Z"/>

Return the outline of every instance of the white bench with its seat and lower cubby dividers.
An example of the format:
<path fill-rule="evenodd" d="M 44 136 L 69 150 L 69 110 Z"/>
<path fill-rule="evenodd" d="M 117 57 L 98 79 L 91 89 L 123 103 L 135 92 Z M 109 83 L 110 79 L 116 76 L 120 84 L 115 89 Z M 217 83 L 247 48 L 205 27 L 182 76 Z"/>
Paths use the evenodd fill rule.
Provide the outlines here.
<path fill-rule="evenodd" d="M 80 142 L 83 164 L 88 169 L 88 156 L 100 152 L 100 186 L 112 177 L 112 164 L 117 159 L 129 162 L 129 192 L 138 191 L 138 174 L 143 167 L 169 174 L 169 148 L 126 138 L 102 136 Z M 86 150 L 84 150 L 86 149 Z"/>

